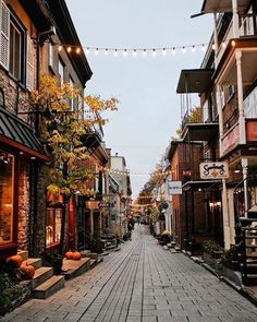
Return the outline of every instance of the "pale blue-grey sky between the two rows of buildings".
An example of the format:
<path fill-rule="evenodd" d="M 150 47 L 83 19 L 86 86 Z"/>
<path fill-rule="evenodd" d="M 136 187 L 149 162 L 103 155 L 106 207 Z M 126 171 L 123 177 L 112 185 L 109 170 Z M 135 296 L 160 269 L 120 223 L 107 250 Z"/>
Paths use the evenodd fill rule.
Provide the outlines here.
<path fill-rule="evenodd" d="M 191 19 L 204 0 L 66 0 L 84 47 L 167 48 L 208 44 L 212 16 Z M 89 53 L 93 77 L 85 94 L 111 96 L 119 110 L 109 115 L 105 142 L 126 159 L 133 198 L 147 182 L 181 123 L 180 95 L 175 93 L 182 69 L 199 68 L 198 48 L 156 57 L 113 57 Z"/>

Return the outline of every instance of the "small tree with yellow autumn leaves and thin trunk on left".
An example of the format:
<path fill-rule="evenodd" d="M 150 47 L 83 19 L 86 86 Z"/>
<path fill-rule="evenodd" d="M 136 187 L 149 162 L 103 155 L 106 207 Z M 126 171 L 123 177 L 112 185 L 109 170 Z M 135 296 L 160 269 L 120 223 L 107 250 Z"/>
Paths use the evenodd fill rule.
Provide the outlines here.
<path fill-rule="evenodd" d="M 86 167 L 89 158 L 87 147 L 82 136 L 91 132 L 94 126 L 103 126 L 108 119 L 102 117 L 107 110 L 117 110 L 118 99 L 102 99 L 100 96 L 88 95 L 81 97 L 78 88 L 63 83 L 59 86 L 56 77 L 42 75 L 38 91 L 32 92 L 30 105 L 42 116 L 41 136 L 47 141 L 51 152 L 49 184 L 50 193 L 61 193 L 64 205 L 74 193 L 94 194 L 88 190 L 86 181 L 95 174 Z M 71 103 L 84 108 L 71 109 Z M 64 252 L 64 231 L 66 222 L 66 206 L 61 226 L 60 253 Z"/>

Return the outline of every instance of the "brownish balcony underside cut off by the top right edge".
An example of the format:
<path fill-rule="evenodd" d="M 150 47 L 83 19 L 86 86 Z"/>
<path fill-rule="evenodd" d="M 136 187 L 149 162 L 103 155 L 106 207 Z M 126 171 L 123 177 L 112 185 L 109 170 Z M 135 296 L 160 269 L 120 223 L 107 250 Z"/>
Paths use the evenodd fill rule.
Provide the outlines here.
<path fill-rule="evenodd" d="M 250 0 L 237 0 L 238 12 L 245 12 L 250 2 Z M 233 12 L 232 0 L 205 0 L 201 12 Z"/>

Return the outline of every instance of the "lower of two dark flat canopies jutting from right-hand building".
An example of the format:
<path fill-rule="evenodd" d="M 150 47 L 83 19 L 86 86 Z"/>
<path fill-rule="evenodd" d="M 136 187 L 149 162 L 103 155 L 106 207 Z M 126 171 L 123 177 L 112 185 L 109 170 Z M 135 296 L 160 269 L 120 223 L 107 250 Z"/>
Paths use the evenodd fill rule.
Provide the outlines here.
<path fill-rule="evenodd" d="M 208 141 L 217 138 L 218 123 L 187 123 L 183 131 L 183 141 Z"/>

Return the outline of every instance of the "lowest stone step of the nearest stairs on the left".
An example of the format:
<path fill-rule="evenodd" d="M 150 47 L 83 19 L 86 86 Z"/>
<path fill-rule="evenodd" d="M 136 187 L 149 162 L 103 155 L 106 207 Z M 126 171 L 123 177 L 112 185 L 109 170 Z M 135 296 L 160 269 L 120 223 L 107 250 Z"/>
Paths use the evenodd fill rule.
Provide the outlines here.
<path fill-rule="evenodd" d="M 50 297 L 53 293 L 64 287 L 64 276 L 53 275 L 34 289 L 33 297 L 40 299 Z"/>

